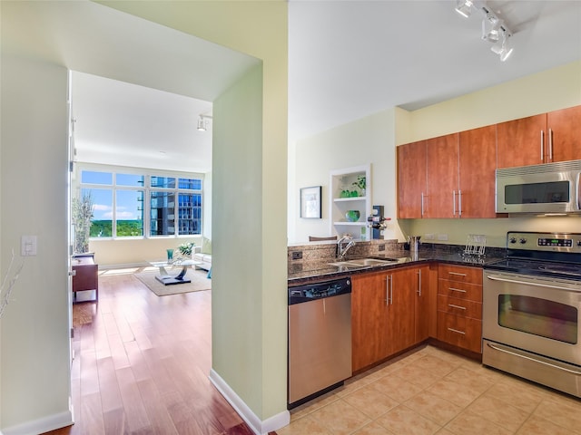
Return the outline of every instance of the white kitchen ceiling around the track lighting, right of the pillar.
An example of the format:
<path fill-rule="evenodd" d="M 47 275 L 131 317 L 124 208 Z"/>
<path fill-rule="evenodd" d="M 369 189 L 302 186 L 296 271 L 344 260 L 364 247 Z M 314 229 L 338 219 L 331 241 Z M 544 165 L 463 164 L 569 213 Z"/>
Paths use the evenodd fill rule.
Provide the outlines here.
<path fill-rule="evenodd" d="M 456 0 L 291 0 L 290 134 L 416 110 L 581 59 L 579 0 L 487 5 L 514 34 L 504 63 L 481 40 L 484 14 L 464 18 Z"/>

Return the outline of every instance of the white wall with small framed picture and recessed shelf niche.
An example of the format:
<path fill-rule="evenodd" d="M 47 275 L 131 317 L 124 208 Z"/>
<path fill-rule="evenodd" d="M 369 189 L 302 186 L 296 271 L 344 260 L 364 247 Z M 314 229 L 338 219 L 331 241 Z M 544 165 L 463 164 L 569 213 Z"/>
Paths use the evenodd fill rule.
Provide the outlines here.
<path fill-rule="evenodd" d="M 300 243 L 309 236 L 330 236 L 330 171 L 371 163 L 371 204 L 382 205 L 392 218 L 384 238 L 399 238 L 394 225 L 397 198 L 395 165 L 395 120 L 399 109 L 380 111 L 367 118 L 324 131 L 295 144 L 294 189 L 290 189 L 289 242 Z M 291 170 L 291 169 L 290 169 Z M 299 217 L 300 188 L 322 186 L 321 219 Z M 294 224 L 294 225 L 292 225 Z"/>

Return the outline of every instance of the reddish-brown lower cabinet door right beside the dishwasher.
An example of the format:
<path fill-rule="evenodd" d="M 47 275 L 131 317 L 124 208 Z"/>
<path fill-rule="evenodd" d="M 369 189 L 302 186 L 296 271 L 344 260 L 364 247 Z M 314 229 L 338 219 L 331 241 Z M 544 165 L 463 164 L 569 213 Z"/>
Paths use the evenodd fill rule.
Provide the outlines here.
<path fill-rule="evenodd" d="M 388 280 L 386 274 L 351 278 L 351 352 L 353 372 L 388 356 Z"/>

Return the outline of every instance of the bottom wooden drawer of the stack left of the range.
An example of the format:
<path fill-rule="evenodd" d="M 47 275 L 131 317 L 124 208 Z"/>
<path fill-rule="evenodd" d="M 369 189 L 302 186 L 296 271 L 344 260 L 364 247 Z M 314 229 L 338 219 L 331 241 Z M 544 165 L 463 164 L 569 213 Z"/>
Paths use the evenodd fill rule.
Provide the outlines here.
<path fill-rule="evenodd" d="M 482 353 L 482 322 L 438 311 L 438 340 Z"/>

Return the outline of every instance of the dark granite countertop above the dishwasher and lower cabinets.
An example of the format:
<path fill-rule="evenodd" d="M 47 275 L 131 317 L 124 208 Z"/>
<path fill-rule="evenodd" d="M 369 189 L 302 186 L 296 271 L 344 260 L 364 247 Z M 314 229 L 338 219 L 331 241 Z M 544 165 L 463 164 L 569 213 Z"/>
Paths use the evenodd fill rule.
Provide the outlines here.
<path fill-rule="evenodd" d="M 389 270 L 397 267 L 419 265 L 422 263 L 440 262 L 460 266 L 484 266 L 488 263 L 504 258 L 501 252 L 495 252 L 491 255 L 477 257 L 464 256 L 461 253 L 449 253 L 438 250 L 420 249 L 417 255 L 413 255 L 409 251 L 385 251 L 373 258 L 385 258 L 397 260 L 397 262 L 389 263 L 381 266 L 331 266 L 338 260 L 323 259 L 312 261 L 291 262 L 289 264 L 289 285 L 302 285 L 314 281 L 323 281 L 327 279 L 335 279 L 340 276 L 356 275 L 360 273 L 369 273 L 371 271 Z M 349 261 L 349 259 L 345 260 Z"/>

